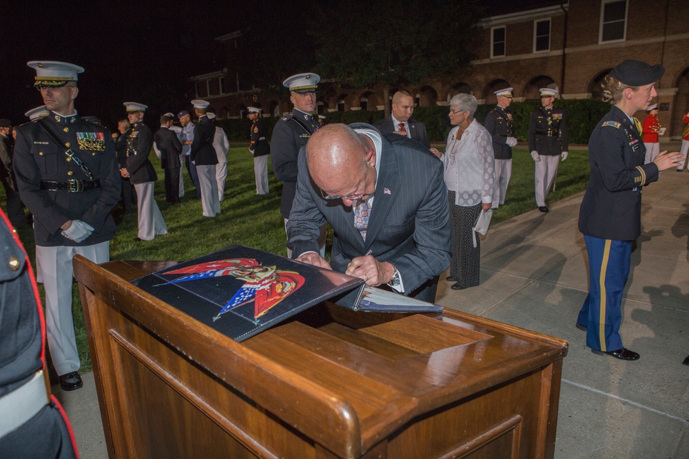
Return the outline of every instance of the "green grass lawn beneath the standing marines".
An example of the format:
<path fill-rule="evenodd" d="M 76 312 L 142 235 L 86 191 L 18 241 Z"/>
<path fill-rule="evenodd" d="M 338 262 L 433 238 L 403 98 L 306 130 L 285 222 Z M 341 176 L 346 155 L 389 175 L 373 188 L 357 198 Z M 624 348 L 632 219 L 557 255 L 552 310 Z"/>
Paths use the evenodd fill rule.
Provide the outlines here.
<path fill-rule="evenodd" d="M 151 242 L 134 242 L 137 235 L 136 213 L 122 215 L 116 208 L 114 215 L 118 231 L 110 245 L 111 259 L 147 259 L 185 261 L 220 250 L 230 244 L 243 244 L 278 255 L 287 255 L 285 229 L 280 216 L 281 185 L 269 162 L 270 193 L 256 195 L 254 162 L 244 145 L 232 147 L 227 155 L 227 182 L 225 199 L 220 203 L 222 213 L 215 218 L 201 215 L 201 202 L 193 200 L 194 187 L 185 171 L 187 194 L 181 204 L 171 206 L 165 202 L 163 171 L 153 154 L 158 168 L 156 201 L 161 208 L 169 233 Z M 533 160 L 525 148 L 514 149 L 512 178 L 507 190 L 506 204 L 493 215 L 493 222 L 535 209 L 533 195 Z M 548 194 L 548 202 L 565 198 L 586 189 L 588 158 L 586 151 L 570 151 L 569 158 L 560 163 L 555 191 Z M 4 191 L 0 190 L 0 204 L 6 209 Z M 29 228 L 18 231 L 35 266 L 33 232 Z M 331 235 L 329 236 L 329 239 Z M 41 297 L 43 297 L 42 286 Z M 81 354 L 82 372 L 91 369 L 88 341 L 81 314 L 79 290 L 74 286 L 74 324 L 77 345 Z"/>

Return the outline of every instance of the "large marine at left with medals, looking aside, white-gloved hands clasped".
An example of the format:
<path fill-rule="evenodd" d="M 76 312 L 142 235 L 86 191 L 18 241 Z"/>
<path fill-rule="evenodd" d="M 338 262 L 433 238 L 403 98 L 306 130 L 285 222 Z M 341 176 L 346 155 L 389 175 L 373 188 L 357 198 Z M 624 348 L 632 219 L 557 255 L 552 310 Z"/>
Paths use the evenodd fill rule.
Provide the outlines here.
<path fill-rule="evenodd" d="M 119 200 L 120 180 L 110 131 L 74 110 L 83 68 L 56 61 L 28 65 L 36 69 L 34 85 L 50 115 L 17 128 L 14 173 L 21 200 L 34 215 L 50 355 L 61 387 L 72 390 L 82 386 L 72 321 L 72 257 L 110 261 L 116 230 L 110 211 Z"/>

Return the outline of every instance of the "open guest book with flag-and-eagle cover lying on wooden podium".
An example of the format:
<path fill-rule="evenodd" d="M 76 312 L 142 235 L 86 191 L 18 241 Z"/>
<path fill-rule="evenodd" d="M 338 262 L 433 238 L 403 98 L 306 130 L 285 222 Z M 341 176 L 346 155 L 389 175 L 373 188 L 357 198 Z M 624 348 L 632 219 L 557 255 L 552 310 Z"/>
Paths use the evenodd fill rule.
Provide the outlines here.
<path fill-rule="evenodd" d="M 369 287 L 357 277 L 240 245 L 132 284 L 235 341 L 326 299 L 362 312 L 442 312 L 441 306 Z"/>

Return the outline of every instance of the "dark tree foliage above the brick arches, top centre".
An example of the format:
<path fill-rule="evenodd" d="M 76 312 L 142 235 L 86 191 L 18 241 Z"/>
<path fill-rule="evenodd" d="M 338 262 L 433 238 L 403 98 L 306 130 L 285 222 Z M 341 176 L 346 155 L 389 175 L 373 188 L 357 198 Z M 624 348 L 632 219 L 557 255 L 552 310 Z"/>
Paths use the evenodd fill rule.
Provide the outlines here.
<path fill-rule="evenodd" d="M 316 71 L 356 87 L 426 81 L 469 62 L 481 14 L 477 0 L 323 2 Z"/>

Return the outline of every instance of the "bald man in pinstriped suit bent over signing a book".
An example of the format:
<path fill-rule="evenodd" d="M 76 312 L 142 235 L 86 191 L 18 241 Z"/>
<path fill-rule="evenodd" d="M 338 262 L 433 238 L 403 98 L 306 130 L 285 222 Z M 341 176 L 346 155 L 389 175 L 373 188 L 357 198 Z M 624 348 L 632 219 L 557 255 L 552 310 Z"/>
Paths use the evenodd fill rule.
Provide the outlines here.
<path fill-rule="evenodd" d="M 418 142 L 364 123 L 333 124 L 299 155 L 287 224 L 299 261 L 435 301 L 450 264 L 450 222 L 442 162 Z M 330 264 L 318 255 L 318 228 L 334 230 Z"/>

